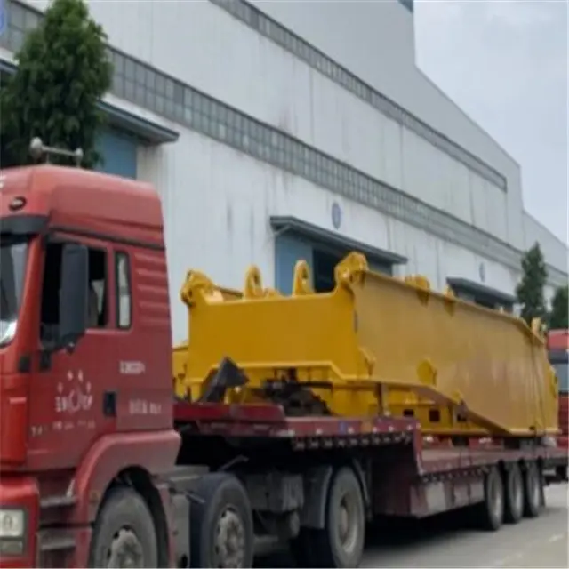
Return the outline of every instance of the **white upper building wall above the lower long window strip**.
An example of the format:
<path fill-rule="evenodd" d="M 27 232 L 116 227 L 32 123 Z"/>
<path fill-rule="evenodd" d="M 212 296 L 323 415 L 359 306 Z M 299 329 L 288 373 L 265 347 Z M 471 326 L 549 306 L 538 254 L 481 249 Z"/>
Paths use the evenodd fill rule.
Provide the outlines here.
<path fill-rule="evenodd" d="M 208 1 L 90 2 L 124 52 L 524 248 L 519 168 L 415 67 L 411 12 L 395 0 L 256 5 L 493 166 L 508 193 Z"/>

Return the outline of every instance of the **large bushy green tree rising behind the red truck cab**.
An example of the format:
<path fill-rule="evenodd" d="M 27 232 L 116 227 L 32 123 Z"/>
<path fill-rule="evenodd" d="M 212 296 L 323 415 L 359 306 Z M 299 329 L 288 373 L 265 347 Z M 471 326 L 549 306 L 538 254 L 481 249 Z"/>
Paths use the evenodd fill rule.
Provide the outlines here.
<path fill-rule="evenodd" d="M 29 143 L 36 136 L 49 146 L 82 148 L 84 167 L 100 161 L 95 143 L 104 116 L 98 103 L 113 70 L 106 40 L 84 0 L 53 0 L 16 54 L 17 71 L 0 94 L 3 167 L 31 163 Z"/>

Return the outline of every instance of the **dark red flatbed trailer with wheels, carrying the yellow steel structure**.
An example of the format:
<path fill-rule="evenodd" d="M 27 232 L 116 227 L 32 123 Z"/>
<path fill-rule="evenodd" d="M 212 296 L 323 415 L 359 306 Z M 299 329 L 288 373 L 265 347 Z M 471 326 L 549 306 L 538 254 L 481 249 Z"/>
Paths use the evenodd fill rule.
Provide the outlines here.
<path fill-rule="evenodd" d="M 562 449 L 537 439 L 518 448 L 496 439 L 429 442 L 407 418 L 286 417 L 276 405 L 187 403 L 174 416 L 181 461 L 233 472 L 247 489 L 255 533 L 290 541 L 299 566 L 357 566 L 366 522 L 376 517 L 463 509 L 490 531 L 538 517 L 543 472 L 567 463 Z M 338 479 L 357 483 L 347 502 L 334 501 Z"/>

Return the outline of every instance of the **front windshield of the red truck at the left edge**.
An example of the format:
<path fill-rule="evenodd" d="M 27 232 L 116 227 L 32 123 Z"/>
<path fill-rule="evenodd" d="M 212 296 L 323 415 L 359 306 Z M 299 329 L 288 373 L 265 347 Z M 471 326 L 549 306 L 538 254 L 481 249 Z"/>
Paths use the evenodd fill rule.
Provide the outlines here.
<path fill-rule="evenodd" d="M 16 333 L 27 259 L 27 239 L 0 237 L 0 346 Z"/>

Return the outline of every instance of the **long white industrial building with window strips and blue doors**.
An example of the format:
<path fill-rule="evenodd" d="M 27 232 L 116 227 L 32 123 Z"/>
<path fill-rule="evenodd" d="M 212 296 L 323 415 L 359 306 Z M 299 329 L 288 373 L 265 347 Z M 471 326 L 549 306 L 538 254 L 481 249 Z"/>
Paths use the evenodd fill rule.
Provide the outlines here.
<path fill-rule="evenodd" d="M 46 4 L 4 0 L 3 73 Z M 326 290 L 353 249 L 512 309 L 539 241 L 548 296 L 566 284 L 519 165 L 417 68 L 413 0 L 89 4 L 115 68 L 101 169 L 160 192 L 174 304 L 190 267 L 241 287 L 255 263 L 286 293 L 303 258 Z"/>

